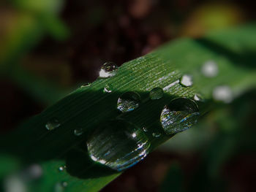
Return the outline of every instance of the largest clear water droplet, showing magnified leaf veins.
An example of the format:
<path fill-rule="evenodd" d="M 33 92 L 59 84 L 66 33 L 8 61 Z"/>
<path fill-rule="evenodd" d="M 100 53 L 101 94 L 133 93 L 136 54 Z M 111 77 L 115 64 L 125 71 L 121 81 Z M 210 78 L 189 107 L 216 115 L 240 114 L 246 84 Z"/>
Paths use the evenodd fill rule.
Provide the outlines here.
<path fill-rule="evenodd" d="M 146 157 L 150 147 L 143 130 L 124 120 L 102 123 L 86 145 L 93 161 L 118 171 L 137 164 Z"/>

